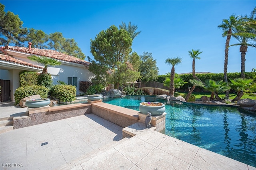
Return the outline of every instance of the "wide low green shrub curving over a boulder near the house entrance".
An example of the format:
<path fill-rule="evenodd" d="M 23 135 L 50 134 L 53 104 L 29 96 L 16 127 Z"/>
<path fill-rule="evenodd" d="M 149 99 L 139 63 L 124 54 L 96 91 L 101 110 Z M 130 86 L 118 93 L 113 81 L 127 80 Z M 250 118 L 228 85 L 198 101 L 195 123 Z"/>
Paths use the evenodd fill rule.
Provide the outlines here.
<path fill-rule="evenodd" d="M 49 89 L 39 85 L 19 87 L 14 93 L 15 104 L 17 105 L 21 99 L 32 95 L 40 95 L 41 98 L 47 98 L 48 91 Z"/>

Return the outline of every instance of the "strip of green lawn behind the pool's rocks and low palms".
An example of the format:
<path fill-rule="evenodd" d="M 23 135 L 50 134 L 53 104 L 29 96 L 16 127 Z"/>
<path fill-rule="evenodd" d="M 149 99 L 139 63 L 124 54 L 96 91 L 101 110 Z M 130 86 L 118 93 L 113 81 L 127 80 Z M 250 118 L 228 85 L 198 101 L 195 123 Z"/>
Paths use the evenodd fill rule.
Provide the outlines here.
<path fill-rule="evenodd" d="M 187 93 L 180 93 L 180 92 L 175 92 L 175 93 L 178 93 L 180 95 L 183 95 L 183 94 L 187 94 Z M 202 96 L 207 96 L 207 97 L 210 97 L 211 96 L 211 93 L 206 93 L 206 92 L 192 92 L 192 95 L 194 95 L 196 97 L 196 99 L 200 99 Z M 225 95 L 226 93 L 221 93 L 219 94 L 219 97 L 224 99 L 225 98 Z M 236 93 L 229 93 L 229 99 L 234 99 L 236 97 Z M 249 96 L 247 94 L 244 94 L 241 99 L 252 99 L 252 100 L 256 100 L 256 96 Z"/>

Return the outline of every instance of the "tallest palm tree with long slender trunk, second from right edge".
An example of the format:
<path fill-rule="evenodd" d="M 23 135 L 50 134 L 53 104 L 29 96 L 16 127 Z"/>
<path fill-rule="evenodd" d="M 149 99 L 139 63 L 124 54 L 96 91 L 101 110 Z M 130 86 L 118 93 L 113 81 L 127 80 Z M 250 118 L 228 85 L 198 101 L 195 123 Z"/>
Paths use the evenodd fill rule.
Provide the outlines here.
<path fill-rule="evenodd" d="M 228 71 L 228 47 L 229 47 L 229 42 L 231 39 L 231 35 L 233 32 L 236 32 L 238 30 L 238 25 L 239 25 L 239 17 L 240 16 L 235 16 L 234 14 L 229 17 L 229 19 L 224 19 L 222 20 L 222 24 L 218 26 L 218 28 L 223 30 L 222 37 L 227 37 L 226 38 L 226 44 L 225 44 L 225 59 L 224 59 L 224 81 L 227 83 L 228 82 L 228 77 L 227 77 L 227 71 Z M 229 93 L 226 91 L 226 98 L 229 98 Z"/>

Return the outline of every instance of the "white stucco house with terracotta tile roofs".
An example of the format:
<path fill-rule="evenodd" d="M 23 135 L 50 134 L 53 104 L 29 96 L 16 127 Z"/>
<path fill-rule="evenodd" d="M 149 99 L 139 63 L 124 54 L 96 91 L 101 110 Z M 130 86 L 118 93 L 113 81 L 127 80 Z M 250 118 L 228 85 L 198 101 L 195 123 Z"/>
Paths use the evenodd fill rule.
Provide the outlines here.
<path fill-rule="evenodd" d="M 27 58 L 31 55 L 51 57 L 60 61 L 61 65 L 48 67 L 53 84 L 64 81 L 69 85 L 75 85 L 77 95 L 83 93 L 79 91 L 79 81 L 91 81 L 94 77 L 88 70 L 90 65 L 88 61 L 52 49 L 31 48 L 31 43 L 28 44 L 29 47 L 0 47 L 1 101 L 14 101 L 14 92 L 20 87 L 21 71 L 42 73 L 44 67 Z"/>

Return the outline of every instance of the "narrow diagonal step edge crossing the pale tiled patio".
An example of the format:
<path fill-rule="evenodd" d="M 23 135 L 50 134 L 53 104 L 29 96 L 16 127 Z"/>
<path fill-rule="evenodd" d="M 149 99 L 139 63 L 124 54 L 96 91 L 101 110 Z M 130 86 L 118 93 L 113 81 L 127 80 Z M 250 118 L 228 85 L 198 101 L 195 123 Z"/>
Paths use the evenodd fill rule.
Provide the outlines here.
<path fill-rule="evenodd" d="M 100 154 L 102 154 L 103 152 L 106 152 L 106 150 L 109 150 L 111 148 L 113 148 L 114 146 L 117 146 L 118 144 L 128 140 L 129 138 L 123 138 L 119 141 L 113 141 L 113 142 L 110 142 L 100 148 L 98 148 L 98 150 L 93 150 L 91 152 L 89 152 L 88 154 L 85 154 L 84 156 L 76 159 L 76 160 L 73 160 L 73 161 L 70 161 L 68 162 L 67 164 L 64 164 L 63 166 L 59 167 L 58 170 L 67 170 L 67 169 L 76 169 L 78 168 L 78 166 L 80 166 L 80 164 L 84 163 L 85 161 L 87 160 L 90 160 L 91 158 L 94 158 L 95 156 L 98 156 Z"/>

